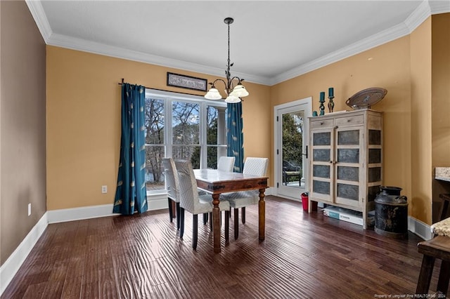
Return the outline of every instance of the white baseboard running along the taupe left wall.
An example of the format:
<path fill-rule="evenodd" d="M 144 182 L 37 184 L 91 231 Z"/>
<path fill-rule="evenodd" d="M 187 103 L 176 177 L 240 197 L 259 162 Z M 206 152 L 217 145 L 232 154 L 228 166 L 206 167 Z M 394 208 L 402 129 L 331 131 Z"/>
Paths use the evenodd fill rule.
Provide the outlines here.
<path fill-rule="evenodd" d="M 32 230 L 27 234 L 27 237 L 19 244 L 15 251 L 9 256 L 8 260 L 0 267 L 0 295 L 3 294 L 8 284 L 13 280 L 15 273 L 18 272 L 20 266 L 32 251 L 37 240 L 44 233 L 49 221 L 47 213 L 34 225 Z"/>

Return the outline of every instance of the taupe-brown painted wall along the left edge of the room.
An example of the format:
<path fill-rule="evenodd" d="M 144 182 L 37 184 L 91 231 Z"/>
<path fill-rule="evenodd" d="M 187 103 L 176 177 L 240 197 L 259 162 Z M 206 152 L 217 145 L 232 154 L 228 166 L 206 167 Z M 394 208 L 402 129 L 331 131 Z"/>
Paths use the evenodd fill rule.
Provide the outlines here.
<path fill-rule="evenodd" d="M 46 93 L 45 44 L 25 1 L 0 1 L 0 13 L 0 263 L 4 265 L 46 212 Z"/>

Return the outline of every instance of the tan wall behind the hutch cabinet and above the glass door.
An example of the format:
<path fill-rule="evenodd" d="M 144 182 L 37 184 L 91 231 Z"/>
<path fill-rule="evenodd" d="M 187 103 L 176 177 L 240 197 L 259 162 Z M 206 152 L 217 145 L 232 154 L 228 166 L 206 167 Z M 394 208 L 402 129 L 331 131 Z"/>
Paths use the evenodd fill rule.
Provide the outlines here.
<path fill-rule="evenodd" d="M 384 183 L 403 188 L 402 194 L 410 197 L 411 92 L 409 78 L 409 36 L 405 36 L 277 84 L 271 89 L 271 101 L 272 105 L 279 105 L 312 96 L 313 110 L 319 111 L 319 93 L 325 91 L 328 96 L 328 87 L 334 87 L 334 111 L 337 112 L 351 109 L 345 101 L 362 89 L 386 88 L 385 98 L 372 107 L 384 112 Z"/>

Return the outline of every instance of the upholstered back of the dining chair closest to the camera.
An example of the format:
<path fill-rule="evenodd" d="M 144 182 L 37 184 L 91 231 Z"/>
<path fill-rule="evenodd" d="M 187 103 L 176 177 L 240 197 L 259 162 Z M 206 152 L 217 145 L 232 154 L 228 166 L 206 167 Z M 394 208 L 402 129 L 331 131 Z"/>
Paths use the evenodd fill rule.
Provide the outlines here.
<path fill-rule="evenodd" d="M 197 180 L 195 180 L 191 161 L 176 160 L 176 171 L 180 182 L 180 206 L 188 212 L 197 211 L 200 205 L 198 197 Z"/>

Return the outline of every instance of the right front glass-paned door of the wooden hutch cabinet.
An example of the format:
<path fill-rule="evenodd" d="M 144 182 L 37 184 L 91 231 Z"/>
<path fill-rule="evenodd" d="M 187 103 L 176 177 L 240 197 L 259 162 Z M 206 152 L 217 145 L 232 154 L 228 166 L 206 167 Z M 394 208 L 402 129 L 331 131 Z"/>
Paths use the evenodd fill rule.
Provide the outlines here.
<path fill-rule="evenodd" d="M 360 128 L 336 129 L 336 197 L 335 202 L 348 206 L 359 206 L 361 190 L 359 187 L 361 174 L 362 134 Z"/>

